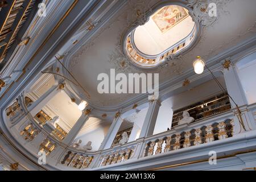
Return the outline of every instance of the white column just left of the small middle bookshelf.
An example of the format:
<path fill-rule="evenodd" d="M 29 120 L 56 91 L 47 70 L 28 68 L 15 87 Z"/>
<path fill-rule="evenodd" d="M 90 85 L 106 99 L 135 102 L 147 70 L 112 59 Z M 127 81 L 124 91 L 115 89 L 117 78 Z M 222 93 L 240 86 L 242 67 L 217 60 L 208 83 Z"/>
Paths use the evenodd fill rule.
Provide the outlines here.
<path fill-rule="evenodd" d="M 112 143 L 115 139 L 115 135 L 117 135 L 121 124 L 122 124 L 122 119 L 120 117 L 114 118 L 111 126 L 109 127 L 108 134 L 106 135 L 103 142 L 101 143 L 99 150 L 108 149 L 112 146 Z"/>

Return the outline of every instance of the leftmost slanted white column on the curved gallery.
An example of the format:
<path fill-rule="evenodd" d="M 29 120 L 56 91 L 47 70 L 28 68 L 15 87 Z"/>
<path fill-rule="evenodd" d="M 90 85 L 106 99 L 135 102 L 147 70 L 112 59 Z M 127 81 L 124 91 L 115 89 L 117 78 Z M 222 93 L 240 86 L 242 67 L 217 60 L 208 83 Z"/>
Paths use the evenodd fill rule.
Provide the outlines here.
<path fill-rule="evenodd" d="M 31 106 L 28 107 L 30 114 L 34 117 L 58 92 L 59 86 L 53 85 L 43 96 L 32 102 Z"/>

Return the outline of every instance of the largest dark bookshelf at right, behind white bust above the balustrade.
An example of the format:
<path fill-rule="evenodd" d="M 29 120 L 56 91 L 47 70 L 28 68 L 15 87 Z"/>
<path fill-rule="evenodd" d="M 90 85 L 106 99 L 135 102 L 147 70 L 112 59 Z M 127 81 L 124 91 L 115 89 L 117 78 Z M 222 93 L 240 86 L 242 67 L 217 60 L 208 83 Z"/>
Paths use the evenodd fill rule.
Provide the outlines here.
<path fill-rule="evenodd" d="M 224 113 L 231 109 L 228 94 L 218 94 L 210 97 L 207 100 L 197 102 L 181 109 L 174 111 L 172 117 L 172 127 L 177 126 L 180 119 L 182 119 L 183 111 L 187 110 L 189 115 L 195 118 L 195 121 L 210 117 L 212 115 Z"/>

